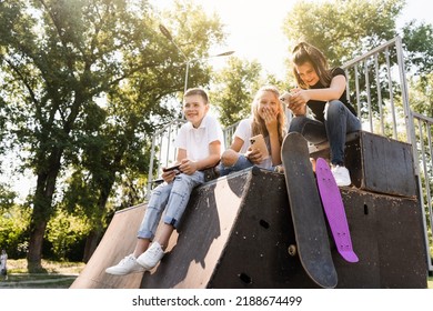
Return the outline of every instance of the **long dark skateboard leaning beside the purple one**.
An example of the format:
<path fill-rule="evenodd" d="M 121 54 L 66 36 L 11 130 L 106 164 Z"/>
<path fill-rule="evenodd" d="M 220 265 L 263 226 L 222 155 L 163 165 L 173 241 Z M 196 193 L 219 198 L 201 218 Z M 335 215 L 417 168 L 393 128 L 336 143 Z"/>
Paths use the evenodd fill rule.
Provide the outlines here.
<path fill-rule="evenodd" d="M 338 275 L 306 140 L 300 133 L 289 133 L 281 158 L 301 264 L 318 285 L 335 288 Z"/>

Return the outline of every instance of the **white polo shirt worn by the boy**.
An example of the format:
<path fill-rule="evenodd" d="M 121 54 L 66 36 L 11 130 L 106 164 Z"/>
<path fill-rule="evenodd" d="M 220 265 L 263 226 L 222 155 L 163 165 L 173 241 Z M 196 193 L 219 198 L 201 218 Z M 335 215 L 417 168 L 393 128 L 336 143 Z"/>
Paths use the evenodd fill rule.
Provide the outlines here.
<path fill-rule="evenodd" d="M 221 143 L 222 152 L 224 149 L 224 138 L 220 122 L 213 116 L 207 114 L 197 129 L 191 122 L 183 124 L 179 130 L 174 146 L 187 150 L 187 158 L 189 160 L 200 161 L 210 156 L 209 144 L 216 140 Z"/>

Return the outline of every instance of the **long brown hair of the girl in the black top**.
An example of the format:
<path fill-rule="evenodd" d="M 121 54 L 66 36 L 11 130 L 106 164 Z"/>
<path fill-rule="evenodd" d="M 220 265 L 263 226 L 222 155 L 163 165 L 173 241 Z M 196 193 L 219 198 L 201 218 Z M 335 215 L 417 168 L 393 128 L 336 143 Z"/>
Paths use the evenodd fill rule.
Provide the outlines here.
<path fill-rule="evenodd" d="M 328 60 L 322 51 L 314 46 L 306 42 L 298 43 L 293 49 L 292 62 L 295 66 L 302 66 L 305 62 L 310 62 L 318 73 L 322 86 L 328 88 L 331 84 L 332 76 L 329 69 Z M 310 87 L 304 81 L 302 81 L 295 66 L 293 66 L 293 76 L 296 79 L 298 86 L 301 89 L 309 89 Z"/>

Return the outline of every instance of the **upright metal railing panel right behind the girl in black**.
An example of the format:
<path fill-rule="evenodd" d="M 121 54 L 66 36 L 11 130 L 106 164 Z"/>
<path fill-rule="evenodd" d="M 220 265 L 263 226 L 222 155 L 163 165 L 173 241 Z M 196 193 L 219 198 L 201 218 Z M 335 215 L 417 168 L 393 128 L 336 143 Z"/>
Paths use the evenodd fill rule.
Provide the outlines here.
<path fill-rule="evenodd" d="M 372 133 L 411 142 L 407 84 L 400 37 L 343 64 L 348 77 L 346 94 Z M 405 120 L 405 129 L 399 120 Z"/>

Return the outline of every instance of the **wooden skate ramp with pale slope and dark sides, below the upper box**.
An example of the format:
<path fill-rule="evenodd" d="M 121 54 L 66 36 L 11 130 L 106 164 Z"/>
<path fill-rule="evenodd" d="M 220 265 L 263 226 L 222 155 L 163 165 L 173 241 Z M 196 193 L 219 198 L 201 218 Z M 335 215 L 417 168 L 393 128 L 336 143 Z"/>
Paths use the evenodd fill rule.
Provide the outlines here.
<path fill-rule="evenodd" d="M 417 200 L 355 188 L 342 189 L 342 198 L 360 261 L 343 260 L 329 234 L 338 288 L 426 288 Z M 153 270 L 107 274 L 132 252 L 144 210 L 115 213 L 72 289 L 318 288 L 290 251 L 295 237 L 283 174 L 255 168 L 199 187 Z"/>

